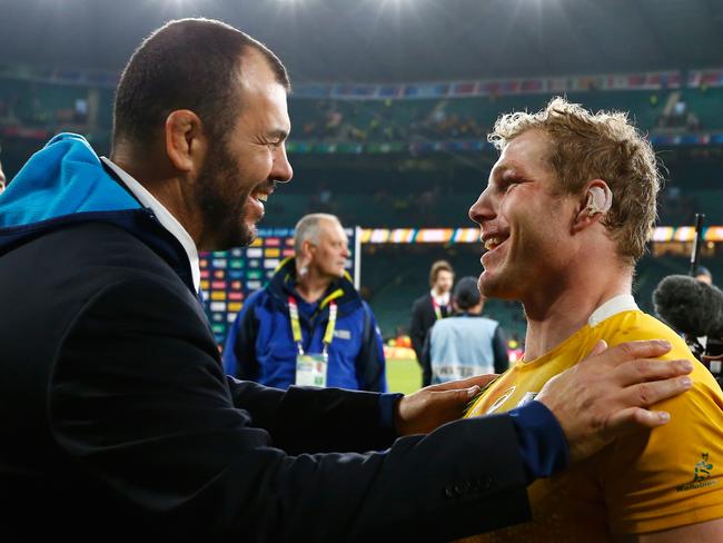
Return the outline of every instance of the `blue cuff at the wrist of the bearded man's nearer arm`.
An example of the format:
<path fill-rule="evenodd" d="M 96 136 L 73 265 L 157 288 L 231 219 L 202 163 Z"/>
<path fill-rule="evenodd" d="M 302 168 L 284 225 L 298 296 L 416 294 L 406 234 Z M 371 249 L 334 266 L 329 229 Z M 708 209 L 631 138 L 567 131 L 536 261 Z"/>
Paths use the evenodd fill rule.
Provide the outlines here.
<path fill-rule="evenodd" d="M 567 440 L 555 415 L 544 404 L 529 402 L 508 414 L 517 432 L 528 483 L 567 467 Z"/>

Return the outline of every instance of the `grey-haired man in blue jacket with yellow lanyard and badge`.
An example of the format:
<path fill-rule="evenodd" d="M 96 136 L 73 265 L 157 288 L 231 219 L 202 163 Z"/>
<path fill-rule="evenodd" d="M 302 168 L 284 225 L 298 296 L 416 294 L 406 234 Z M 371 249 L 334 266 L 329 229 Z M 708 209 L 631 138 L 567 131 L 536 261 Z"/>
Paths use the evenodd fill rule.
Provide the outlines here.
<path fill-rule="evenodd" d="M 382 336 L 345 272 L 348 239 L 338 218 L 301 218 L 294 249 L 238 314 L 224 351 L 226 373 L 277 388 L 386 392 Z"/>

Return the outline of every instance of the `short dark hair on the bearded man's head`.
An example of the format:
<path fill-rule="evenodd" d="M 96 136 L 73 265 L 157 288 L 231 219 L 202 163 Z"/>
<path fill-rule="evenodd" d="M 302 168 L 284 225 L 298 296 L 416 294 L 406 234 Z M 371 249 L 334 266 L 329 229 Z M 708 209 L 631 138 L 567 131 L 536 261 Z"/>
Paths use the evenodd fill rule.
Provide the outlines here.
<path fill-rule="evenodd" d="M 177 109 L 190 109 L 211 138 L 224 140 L 241 103 L 235 79 L 247 48 L 259 51 L 288 90 L 288 73 L 266 46 L 221 21 L 179 19 L 153 31 L 120 77 L 113 109 L 113 144 L 148 145 Z M 235 102 L 236 100 L 236 102 Z"/>

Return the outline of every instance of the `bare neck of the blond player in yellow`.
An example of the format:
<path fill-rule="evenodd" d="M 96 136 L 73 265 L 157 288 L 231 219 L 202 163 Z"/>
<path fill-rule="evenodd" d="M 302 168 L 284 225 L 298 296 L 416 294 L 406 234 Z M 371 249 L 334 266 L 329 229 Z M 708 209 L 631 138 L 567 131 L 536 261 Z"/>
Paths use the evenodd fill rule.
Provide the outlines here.
<path fill-rule="evenodd" d="M 527 316 L 525 359 L 534 361 L 587 324 L 595 309 L 632 289 L 632 270 L 602 270 L 600 261 L 574 277 L 557 277 L 555 286 L 539 286 L 523 300 Z"/>

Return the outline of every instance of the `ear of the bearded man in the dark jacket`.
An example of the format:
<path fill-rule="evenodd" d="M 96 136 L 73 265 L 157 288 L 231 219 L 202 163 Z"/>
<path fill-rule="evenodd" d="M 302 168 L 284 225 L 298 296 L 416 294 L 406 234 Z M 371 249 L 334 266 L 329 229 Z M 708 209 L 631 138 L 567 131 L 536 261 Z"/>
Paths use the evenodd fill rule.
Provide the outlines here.
<path fill-rule="evenodd" d="M 189 109 L 171 111 L 165 132 L 166 154 L 174 167 L 184 174 L 197 174 L 208 149 L 201 119 Z"/>

